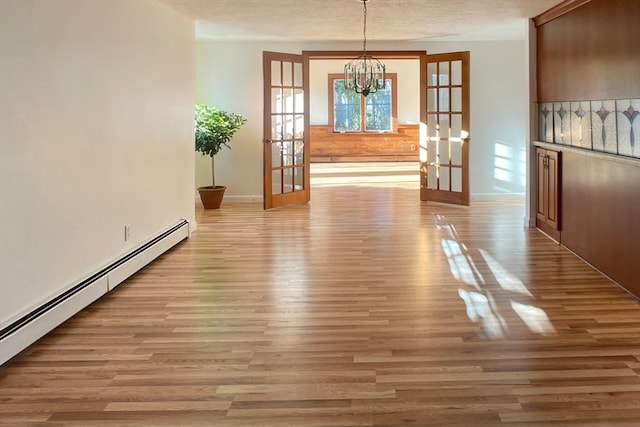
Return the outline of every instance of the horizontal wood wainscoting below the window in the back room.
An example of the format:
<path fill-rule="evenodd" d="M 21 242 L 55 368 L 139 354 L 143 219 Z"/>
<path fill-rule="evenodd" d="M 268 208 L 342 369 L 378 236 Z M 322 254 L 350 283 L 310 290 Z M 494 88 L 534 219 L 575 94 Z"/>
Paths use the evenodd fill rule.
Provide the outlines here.
<path fill-rule="evenodd" d="M 417 161 L 419 125 L 383 133 L 336 133 L 328 125 L 313 125 L 310 142 L 312 162 Z"/>

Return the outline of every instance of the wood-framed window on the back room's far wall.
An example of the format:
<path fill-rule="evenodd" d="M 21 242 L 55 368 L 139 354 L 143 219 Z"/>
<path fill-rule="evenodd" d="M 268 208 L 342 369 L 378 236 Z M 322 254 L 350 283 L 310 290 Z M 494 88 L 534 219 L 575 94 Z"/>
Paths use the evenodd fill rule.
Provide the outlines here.
<path fill-rule="evenodd" d="M 396 74 L 387 74 L 384 89 L 362 96 L 344 88 L 344 75 L 329 74 L 329 122 L 334 132 L 393 132 Z"/>

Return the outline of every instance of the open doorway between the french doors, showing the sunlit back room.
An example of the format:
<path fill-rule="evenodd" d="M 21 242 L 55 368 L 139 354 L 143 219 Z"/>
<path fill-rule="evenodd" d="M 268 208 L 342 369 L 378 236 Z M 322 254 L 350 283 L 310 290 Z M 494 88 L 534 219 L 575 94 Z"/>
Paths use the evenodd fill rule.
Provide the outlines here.
<path fill-rule="evenodd" d="M 306 53 L 306 52 L 305 52 Z M 342 93 L 341 73 L 351 53 L 331 52 L 326 56 L 309 58 L 311 80 L 310 98 L 310 150 L 311 186 L 370 185 L 404 186 L 416 190 L 419 184 L 419 123 L 420 55 L 409 52 L 402 57 L 398 52 L 380 54 L 387 70 L 387 89 L 367 98 Z M 348 94 L 347 94 L 348 95 Z M 380 101 L 388 114 L 383 130 L 368 129 L 365 119 L 367 103 Z M 355 107 L 359 120 L 353 115 Z M 346 104 L 346 105 L 345 105 Z M 364 105 L 362 105 L 364 104 Z M 349 115 L 340 115 L 340 109 L 351 107 Z M 371 111 L 370 110 L 370 111 Z M 371 112 L 369 114 L 372 114 Z M 371 116 L 369 116 L 370 118 Z M 346 119 L 350 119 L 347 124 Z M 350 129 L 354 122 L 356 129 Z M 380 122 L 372 123 L 377 126 Z"/>

